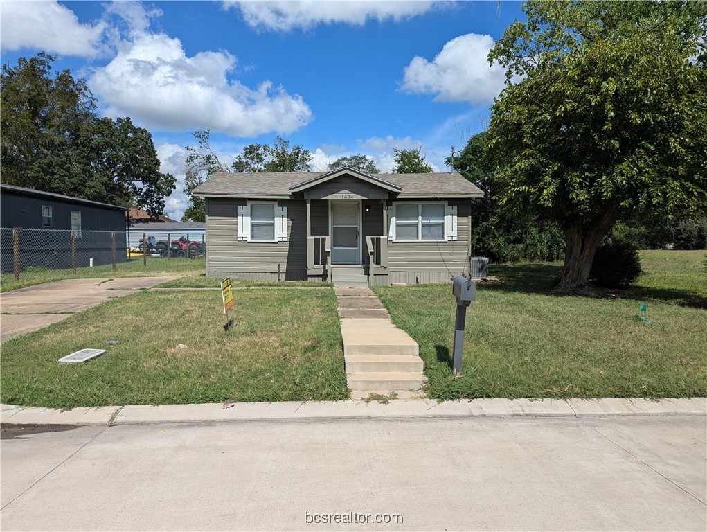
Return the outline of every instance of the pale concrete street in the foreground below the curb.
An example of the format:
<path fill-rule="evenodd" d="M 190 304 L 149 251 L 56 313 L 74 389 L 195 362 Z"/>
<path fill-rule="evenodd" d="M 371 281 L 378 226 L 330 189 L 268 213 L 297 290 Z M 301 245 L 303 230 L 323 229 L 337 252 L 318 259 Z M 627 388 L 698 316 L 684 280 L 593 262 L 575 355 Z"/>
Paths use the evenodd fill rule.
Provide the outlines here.
<path fill-rule="evenodd" d="M 705 531 L 706 445 L 704 415 L 28 430 L 2 529 Z"/>

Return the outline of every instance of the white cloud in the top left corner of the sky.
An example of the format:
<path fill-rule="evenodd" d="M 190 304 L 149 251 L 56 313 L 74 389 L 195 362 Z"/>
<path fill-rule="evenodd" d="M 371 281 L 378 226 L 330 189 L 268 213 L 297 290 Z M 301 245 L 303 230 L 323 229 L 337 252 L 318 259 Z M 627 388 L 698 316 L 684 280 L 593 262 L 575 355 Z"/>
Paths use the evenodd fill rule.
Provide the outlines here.
<path fill-rule="evenodd" d="M 105 23 L 81 24 L 73 11 L 56 0 L 3 1 L 1 11 L 3 50 L 32 48 L 78 57 L 100 53 Z"/>

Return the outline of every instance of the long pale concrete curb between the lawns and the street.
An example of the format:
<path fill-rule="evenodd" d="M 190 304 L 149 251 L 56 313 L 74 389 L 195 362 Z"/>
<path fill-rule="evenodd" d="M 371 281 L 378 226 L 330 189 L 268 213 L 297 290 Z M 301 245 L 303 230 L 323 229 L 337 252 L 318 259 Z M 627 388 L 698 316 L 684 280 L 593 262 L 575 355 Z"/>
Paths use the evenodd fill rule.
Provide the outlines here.
<path fill-rule="evenodd" d="M 194 422 L 404 419 L 413 417 L 597 417 L 707 415 L 707 398 L 646 399 L 432 399 L 127 405 L 58 410 L 0 405 L 2 424 L 123 425 Z"/>

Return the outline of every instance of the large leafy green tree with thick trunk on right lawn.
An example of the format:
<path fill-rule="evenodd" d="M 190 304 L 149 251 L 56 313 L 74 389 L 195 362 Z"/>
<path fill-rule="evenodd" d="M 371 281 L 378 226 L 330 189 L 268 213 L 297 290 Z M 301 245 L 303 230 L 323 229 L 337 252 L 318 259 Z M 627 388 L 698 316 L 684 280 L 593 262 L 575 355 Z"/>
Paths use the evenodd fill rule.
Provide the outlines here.
<path fill-rule="evenodd" d="M 557 289 L 575 291 L 621 216 L 707 207 L 707 2 L 523 11 L 489 54 L 508 77 L 489 127 L 496 183 L 509 209 L 561 226 Z"/>

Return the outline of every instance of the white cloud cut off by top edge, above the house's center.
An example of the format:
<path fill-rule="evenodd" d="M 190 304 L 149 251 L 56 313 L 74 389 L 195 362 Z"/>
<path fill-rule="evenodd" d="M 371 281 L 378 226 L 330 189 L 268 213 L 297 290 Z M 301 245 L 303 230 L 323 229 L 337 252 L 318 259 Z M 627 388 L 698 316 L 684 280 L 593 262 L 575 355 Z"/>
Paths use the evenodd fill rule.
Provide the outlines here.
<path fill-rule="evenodd" d="M 289 31 L 310 29 L 318 24 L 344 23 L 363 25 L 368 20 L 400 21 L 421 15 L 442 1 L 234 1 L 223 2 L 226 8 L 239 8 L 245 22 L 253 28 Z"/>

